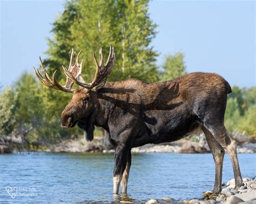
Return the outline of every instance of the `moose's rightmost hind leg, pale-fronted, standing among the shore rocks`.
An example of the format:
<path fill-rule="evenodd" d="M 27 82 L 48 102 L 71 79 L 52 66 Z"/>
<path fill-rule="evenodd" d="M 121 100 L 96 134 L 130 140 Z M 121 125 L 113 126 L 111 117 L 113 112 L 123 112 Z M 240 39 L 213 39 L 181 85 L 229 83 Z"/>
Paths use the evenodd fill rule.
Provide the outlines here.
<path fill-rule="evenodd" d="M 237 157 L 237 142 L 235 142 L 235 140 L 230 137 L 224 124 L 216 126 L 214 125 L 207 129 L 211 131 L 214 138 L 224 148 L 230 157 L 234 171 L 235 189 L 238 189 L 243 184 Z"/>

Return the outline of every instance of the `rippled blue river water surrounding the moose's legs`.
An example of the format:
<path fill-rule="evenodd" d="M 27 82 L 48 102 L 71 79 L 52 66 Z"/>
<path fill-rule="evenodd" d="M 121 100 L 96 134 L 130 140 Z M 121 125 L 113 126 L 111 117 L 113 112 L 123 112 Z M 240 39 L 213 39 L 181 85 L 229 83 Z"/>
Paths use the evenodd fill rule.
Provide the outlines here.
<path fill-rule="evenodd" d="M 242 177 L 255 177 L 256 154 L 238 157 Z M 127 198 L 112 195 L 113 154 L 0 154 L 0 165 L 1 203 L 193 199 L 214 184 L 211 154 L 132 154 Z M 225 155 L 223 181 L 232 178 L 231 161 Z"/>

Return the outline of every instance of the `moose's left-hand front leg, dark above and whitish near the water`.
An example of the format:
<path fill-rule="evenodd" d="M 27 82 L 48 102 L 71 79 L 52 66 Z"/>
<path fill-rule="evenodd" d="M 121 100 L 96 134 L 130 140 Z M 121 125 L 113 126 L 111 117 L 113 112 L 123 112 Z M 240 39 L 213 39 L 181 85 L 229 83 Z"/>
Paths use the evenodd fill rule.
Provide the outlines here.
<path fill-rule="evenodd" d="M 113 194 L 118 194 L 120 182 L 127 164 L 128 152 L 127 147 L 123 146 L 117 146 L 114 150 Z"/>

